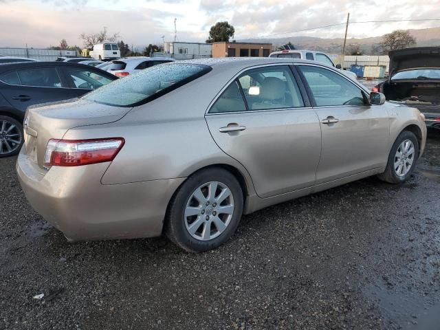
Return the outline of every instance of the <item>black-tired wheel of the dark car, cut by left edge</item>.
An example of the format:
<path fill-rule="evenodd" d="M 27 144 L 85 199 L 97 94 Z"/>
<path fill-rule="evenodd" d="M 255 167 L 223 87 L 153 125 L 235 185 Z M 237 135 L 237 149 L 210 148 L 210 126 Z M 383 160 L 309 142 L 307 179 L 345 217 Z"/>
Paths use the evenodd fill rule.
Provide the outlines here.
<path fill-rule="evenodd" d="M 5 131 L 3 131 L 3 124 L 6 127 Z M 11 126 L 13 126 L 12 130 L 8 132 L 9 134 L 6 133 Z M 11 133 L 14 133 L 13 137 L 10 136 Z M 8 115 L 0 115 L 0 158 L 17 155 L 20 152 L 21 146 L 23 146 L 23 136 L 23 125 L 21 122 Z M 19 141 L 19 143 L 14 143 L 16 141 Z M 9 151 L 8 147 L 11 151 Z"/>

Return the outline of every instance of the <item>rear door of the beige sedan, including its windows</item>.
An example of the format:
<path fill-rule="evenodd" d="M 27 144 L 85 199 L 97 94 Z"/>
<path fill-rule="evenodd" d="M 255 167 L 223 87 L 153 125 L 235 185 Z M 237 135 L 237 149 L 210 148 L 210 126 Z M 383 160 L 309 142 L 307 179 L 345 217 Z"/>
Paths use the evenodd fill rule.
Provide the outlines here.
<path fill-rule="evenodd" d="M 206 115 L 215 142 L 245 166 L 261 197 L 315 184 L 320 123 L 303 96 L 289 65 L 265 65 L 233 80 Z"/>

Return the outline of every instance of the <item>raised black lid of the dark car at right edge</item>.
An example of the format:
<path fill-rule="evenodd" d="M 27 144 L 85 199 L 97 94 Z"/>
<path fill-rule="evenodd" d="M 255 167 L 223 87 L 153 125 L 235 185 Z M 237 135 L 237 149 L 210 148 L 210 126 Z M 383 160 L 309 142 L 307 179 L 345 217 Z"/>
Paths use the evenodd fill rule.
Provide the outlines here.
<path fill-rule="evenodd" d="M 390 56 L 390 78 L 398 71 L 417 67 L 440 67 L 440 47 L 415 47 L 392 50 Z"/>

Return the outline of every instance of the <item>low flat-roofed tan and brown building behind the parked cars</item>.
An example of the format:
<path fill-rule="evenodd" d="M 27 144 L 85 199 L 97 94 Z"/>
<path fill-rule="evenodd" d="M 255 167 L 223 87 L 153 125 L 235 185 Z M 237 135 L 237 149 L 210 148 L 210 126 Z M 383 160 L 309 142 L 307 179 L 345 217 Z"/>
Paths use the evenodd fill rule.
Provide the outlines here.
<path fill-rule="evenodd" d="M 267 57 L 272 43 L 212 43 L 212 57 Z"/>

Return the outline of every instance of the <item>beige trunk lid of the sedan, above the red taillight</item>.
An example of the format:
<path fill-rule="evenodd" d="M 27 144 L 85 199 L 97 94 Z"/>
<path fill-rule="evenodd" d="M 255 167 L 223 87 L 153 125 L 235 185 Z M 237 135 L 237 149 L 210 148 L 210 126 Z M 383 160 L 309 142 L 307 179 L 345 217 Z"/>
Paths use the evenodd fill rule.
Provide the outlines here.
<path fill-rule="evenodd" d="M 34 164 L 44 168 L 45 149 L 50 139 L 61 139 L 77 126 L 115 122 L 130 110 L 77 99 L 29 107 L 23 124 L 23 148 Z"/>

